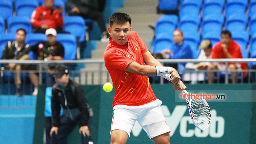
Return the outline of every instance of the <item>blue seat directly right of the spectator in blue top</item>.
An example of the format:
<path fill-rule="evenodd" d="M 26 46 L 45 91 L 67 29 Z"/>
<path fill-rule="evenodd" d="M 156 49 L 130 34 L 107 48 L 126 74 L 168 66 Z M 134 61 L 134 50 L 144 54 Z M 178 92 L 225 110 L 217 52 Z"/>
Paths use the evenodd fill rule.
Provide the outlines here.
<path fill-rule="evenodd" d="M 184 32 L 184 42 L 189 44 L 192 52 L 193 52 L 193 58 L 198 58 L 198 43 L 200 40 L 200 35 L 198 32 Z"/>

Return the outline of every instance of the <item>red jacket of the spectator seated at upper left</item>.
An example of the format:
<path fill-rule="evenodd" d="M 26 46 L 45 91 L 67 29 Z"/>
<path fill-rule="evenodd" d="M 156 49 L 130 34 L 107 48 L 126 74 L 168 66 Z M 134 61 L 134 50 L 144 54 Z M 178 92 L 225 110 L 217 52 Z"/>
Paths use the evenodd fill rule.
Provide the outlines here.
<path fill-rule="evenodd" d="M 37 7 L 30 19 L 33 27 L 41 27 L 41 25 L 47 25 L 49 28 L 62 28 L 63 18 L 59 15 L 59 10 L 47 9 L 45 6 Z"/>

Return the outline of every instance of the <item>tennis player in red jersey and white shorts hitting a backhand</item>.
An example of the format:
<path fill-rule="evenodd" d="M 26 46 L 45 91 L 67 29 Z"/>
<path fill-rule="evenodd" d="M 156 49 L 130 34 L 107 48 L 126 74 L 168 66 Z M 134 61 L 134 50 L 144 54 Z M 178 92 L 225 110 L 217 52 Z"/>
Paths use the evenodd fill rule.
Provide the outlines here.
<path fill-rule="evenodd" d="M 104 61 L 115 86 L 111 144 L 125 144 L 136 120 L 155 144 L 170 144 L 170 129 L 160 109 L 162 101 L 156 98 L 148 76 L 164 75 L 177 91 L 186 87 L 178 72 L 163 67 L 139 35 L 131 31 L 131 18 L 127 14 L 114 13 L 109 21 L 111 37 Z"/>

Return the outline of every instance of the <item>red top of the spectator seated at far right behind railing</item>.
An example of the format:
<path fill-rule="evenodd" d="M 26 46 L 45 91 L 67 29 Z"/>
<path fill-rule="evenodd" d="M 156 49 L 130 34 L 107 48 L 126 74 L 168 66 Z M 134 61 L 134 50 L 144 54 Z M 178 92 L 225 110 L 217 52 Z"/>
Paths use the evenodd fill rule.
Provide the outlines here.
<path fill-rule="evenodd" d="M 222 48 L 222 42 L 218 42 L 213 46 L 213 50 L 212 50 L 212 59 L 226 59 L 227 56 Z M 227 48 L 228 52 L 231 55 L 231 59 L 242 59 L 243 55 L 241 52 L 241 48 L 240 45 L 238 43 L 236 43 L 235 41 L 231 41 L 228 48 Z M 231 63 L 229 63 L 231 64 Z M 247 66 L 245 63 L 240 63 L 242 66 L 242 69 L 247 69 Z M 244 72 L 244 77 L 246 76 L 246 72 Z"/>

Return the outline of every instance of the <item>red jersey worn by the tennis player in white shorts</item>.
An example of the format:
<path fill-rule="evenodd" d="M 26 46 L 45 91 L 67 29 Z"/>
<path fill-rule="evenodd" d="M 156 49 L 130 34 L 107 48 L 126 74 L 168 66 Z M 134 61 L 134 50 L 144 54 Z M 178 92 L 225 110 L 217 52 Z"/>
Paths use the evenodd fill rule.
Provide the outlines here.
<path fill-rule="evenodd" d="M 138 106 L 156 100 L 148 77 L 125 71 L 132 62 L 144 65 L 142 54 L 148 49 L 139 35 L 131 31 L 128 46 L 124 47 L 113 42 L 112 37 L 109 41 L 104 51 L 104 61 L 115 86 L 112 106 Z"/>

